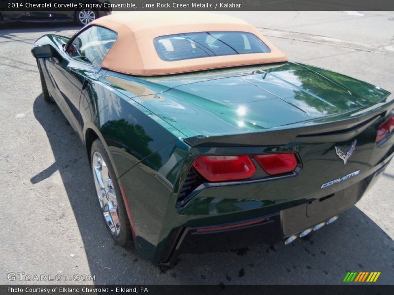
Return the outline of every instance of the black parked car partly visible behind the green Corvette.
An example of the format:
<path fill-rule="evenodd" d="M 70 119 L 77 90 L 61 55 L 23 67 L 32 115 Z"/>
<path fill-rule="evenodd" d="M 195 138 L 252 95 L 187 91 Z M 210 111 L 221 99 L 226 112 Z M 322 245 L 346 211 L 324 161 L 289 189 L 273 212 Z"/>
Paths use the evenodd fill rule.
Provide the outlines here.
<path fill-rule="evenodd" d="M 33 3 L 34 1 L 32 1 Z M 55 1 L 48 1 L 55 2 Z M 78 0 L 56 0 L 58 3 L 79 3 Z M 86 0 L 85 3 L 103 4 L 109 2 L 108 0 Z M 103 7 L 103 6 L 102 6 Z M 29 23 L 48 23 L 48 22 L 76 22 L 81 26 L 85 26 L 99 17 L 111 13 L 110 8 L 101 8 L 100 10 L 79 8 L 75 10 L 53 10 L 53 11 L 1 11 L 0 21 L 3 23 L 9 22 L 29 22 Z"/>

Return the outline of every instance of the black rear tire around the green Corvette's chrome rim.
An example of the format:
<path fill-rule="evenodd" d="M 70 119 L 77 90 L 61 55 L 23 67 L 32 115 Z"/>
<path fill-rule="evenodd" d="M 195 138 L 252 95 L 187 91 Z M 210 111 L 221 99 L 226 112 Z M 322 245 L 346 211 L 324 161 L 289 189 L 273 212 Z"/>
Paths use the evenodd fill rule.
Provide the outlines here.
<path fill-rule="evenodd" d="M 115 190 L 116 200 L 118 203 L 119 219 L 120 219 L 120 225 L 121 225 L 119 234 L 115 235 L 111 232 L 111 230 L 107 226 L 107 223 L 105 222 L 104 215 L 103 214 L 101 214 L 101 215 L 103 217 L 105 227 L 107 228 L 110 236 L 115 240 L 115 242 L 118 245 L 120 245 L 122 247 L 127 247 L 131 244 L 131 241 L 132 241 L 130 220 L 129 220 L 129 217 L 126 212 L 125 204 L 123 202 L 123 197 L 121 194 L 119 183 L 116 180 L 116 175 L 115 175 L 115 171 L 112 167 L 112 163 L 109 159 L 107 152 L 105 151 L 104 145 L 102 144 L 102 142 L 99 139 L 96 139 L 92 144 L 92 148 L 90 151 L 91 163 L 93 163 L 93 154 L 96 151 L 99 152 L 99 154 L 102 156 L 102 159 L 104 160 L 104 162 L 106 163 L 106 167 L 108 168 L 109 177 L 111 179 L 113 179 L 112 184 L 113 184 L 113 188 Z M 91 167 L 92 167 L 92 173 L 94 173 L 93 172 L 93 165 L 91 165 Z M 98 200 L 98 202 L 99 202 L 99 200 Z"/>

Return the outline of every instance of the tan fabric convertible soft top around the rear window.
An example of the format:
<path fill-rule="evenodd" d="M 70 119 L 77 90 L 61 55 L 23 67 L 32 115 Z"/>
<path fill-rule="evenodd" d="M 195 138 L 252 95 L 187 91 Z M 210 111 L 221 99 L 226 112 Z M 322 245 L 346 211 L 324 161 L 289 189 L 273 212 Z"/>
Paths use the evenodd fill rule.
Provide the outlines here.
<path fill-rule="evenodd" d="M 207 12 L 138 11 L 101 17 L 91 24 L 111 29 L 118 38 L 101 62 L 101 67 L 131 75 L 156 76 L 215 68 L 287 61 L 252 25 L 243 20 Z M 270 53 L 204 57 L 165 61 L 153 40 L 159 36 L 203 31 L 242 31 L 258 36 Z"/>

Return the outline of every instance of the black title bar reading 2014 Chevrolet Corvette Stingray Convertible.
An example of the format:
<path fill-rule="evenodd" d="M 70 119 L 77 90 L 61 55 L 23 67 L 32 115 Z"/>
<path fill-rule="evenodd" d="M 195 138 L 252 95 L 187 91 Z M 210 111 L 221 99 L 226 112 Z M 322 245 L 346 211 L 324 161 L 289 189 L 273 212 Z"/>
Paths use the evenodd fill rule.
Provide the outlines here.
<path fill-rule="evenodd" d="M 393 0 L 0 0 L 0 11 L 394 10 Z"/>

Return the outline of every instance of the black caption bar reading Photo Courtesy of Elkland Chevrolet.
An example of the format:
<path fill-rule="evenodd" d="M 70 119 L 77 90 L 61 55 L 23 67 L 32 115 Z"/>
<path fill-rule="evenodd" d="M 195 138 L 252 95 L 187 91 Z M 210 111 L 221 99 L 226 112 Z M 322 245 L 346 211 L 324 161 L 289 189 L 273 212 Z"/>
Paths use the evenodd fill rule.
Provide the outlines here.
<path fill-rule="evenodd" d="M 394 285 L 0 285 L 1 295 L 393 295 Z"/>

